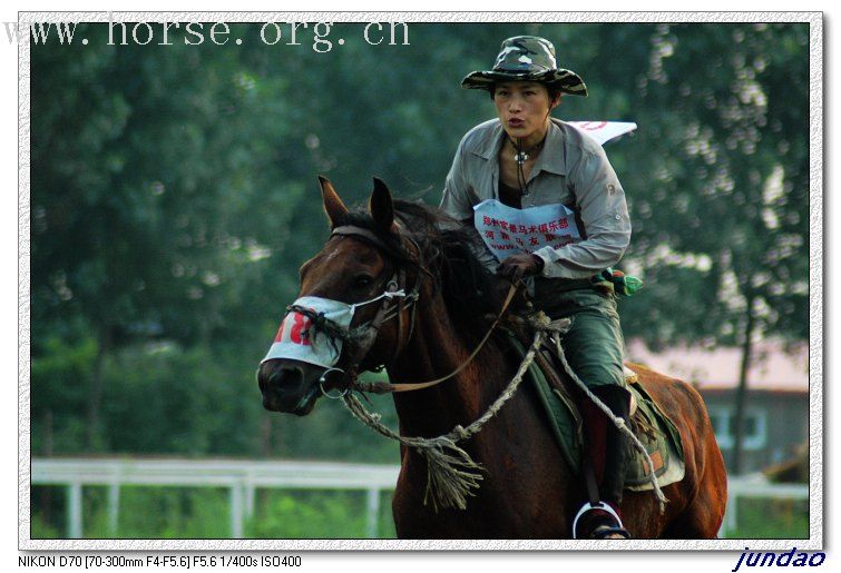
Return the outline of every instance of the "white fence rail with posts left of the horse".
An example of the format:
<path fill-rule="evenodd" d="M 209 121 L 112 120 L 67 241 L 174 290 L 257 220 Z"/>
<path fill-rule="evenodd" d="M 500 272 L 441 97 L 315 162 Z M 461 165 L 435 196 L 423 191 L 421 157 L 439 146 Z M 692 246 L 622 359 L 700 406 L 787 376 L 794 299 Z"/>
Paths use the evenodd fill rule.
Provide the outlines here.
<path fill-rule="evenodd" d="M 117 534 L 123 485 L 226 487 L 231 491 L 231 535 L 242 539 L 254 515 L 256 488 L 361 490 L 368 492 L 366 534 L 377 536 L 380 493 L 393 490 L 400 467 L 320 462 L 254 462 L 221 460 L 88 460 L 31 461 L 32 485 L 67 487 L 67 535 L 82 539 L 81 490 L 108 487 L 110 533 Z"/>

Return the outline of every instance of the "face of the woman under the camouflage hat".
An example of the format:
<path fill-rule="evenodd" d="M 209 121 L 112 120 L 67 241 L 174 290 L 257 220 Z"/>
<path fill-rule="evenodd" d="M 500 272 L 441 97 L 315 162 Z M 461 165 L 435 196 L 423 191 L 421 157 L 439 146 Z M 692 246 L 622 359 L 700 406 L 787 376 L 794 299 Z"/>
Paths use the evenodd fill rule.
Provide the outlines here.
<path fill-rule="evenodd" d="M 549 121 L 549 111 L 557 105 L 549 100 L 542 83 L 508 81 L 498 83 L 493 105 L 506 132 L 517 139 L 541 139 Z"/>

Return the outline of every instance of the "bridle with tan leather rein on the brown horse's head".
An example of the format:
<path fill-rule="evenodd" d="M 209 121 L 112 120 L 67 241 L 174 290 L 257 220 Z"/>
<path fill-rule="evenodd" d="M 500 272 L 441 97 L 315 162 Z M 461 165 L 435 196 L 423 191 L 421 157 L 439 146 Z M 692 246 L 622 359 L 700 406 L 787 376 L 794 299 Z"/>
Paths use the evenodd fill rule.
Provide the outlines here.
<path fill-rule="evenodd" d="M 385 243 L 380 239 L 374 233 L 362 228 L 356 227 L 352 225 L 346 226 L 340 226 L 333 229 L 331 237 L 333 236 L 341 236 L 341 237 L 355 237 L 360 238 L 362 240 L 365 240 L 368 243 L 373 244 L 375 247 L 384 251 L 385 254 L 392 254 L 393 248 L 388 246 Z M 508 295 L 506 297 L 505 303 L 502 304 L 502 308 L 500 309 L 499 314 L 496 317 L 496 320 L 490 326 L 488 332 L 486 333 L 482 340 L 479 343 L 479 345 L 473 349 L 473 352 L 468 356 L 468 358 L 459 365 L 456 371 L 452 373 L 442 376 L 440 378 L 436 378 L 432 381 L 427 382 L 420 382 L 420 383 L 411 383 L 411 384 L 390 384 L 390 383 L 362 383 L 359 382 L 359 367 L 362 360 L 365 358 L 368 353 L 373 347 L 374 343 L 377 342 L 377 337 L 380 333 L 380 328 L 382 327 L 383 323 L 387 320 L 397 317 L 398 319 L 398 340 L 394 345 L 394 352 L 392 353 L 392 358 L 390 360 L 393 362 L 397 359 L 398 356 L 403 352 L 405 346 L 409 344 L 409 342 L 412 338 L 412 335 L 414 334 L 414 323 L 415 323 L 415 314 L 418 309 L 418 299 L 420 298 L 420 275 L 421 273 L 430 274 L 429 270 L 423 268 L 422 265 L 422 258 L 421 258 L 421 249 L 420 246 L 408 235 L 401 235 L 401 239 L 405 239 L 412 248 L 415 250 L 417 257 L 418 257 L 418 266 L 420 268 L 420 271 L 418 274 L 418 277 L 415 278 L 414 286 L 412 287 L 410 293 L 405 293 L 405 269 L 402 267 L 399 267 L 399 269 L 394 273 L 392 278 L 387 283 L 385 290 L 378 297 L 374 297 L 370 300 L 358 303 L 355 304 L 356 307 L 368 305 L 371 303 L 374 303 L 377 300 L 382 299 L 382 304 L 380 305 L 380 308 L 377 310 L 377 314 L 374 317 L 362 325 L 359 325 L 353 328 L 349 328 L 345 333 L 335 333 L 335 330 L 342 330 L 341 328 L 323 328 L 324 323 L 330 323 L 329 320 L 324 319 L 323 316 L 314 316 L 313 318 L 313 328 L 320 328 L 321 327 L 324 330 L 334 330 L 332 334 L 332 337 L 340 337 L 344 342 L 352 342 L 352 346 L 354 347 L 354 352 L 351 356 L 351 359 L 349 360 L 349 366 L 346 366 L 344 369 L 342 368 L 327 368 L 322 373 L 321 377 L 319 378 L 319 386 L 321 388 L 321 392 L 324 396 L 329 398 L 342 398 L 346 396 L 351 391 L 358 391 L 361 393 L 370 392 L 373 394 L 387 394 L 387 393 L 393 393 L 393 392 L 411 392 L 411 391 L 418 391 L 428 388 L 430 386 L 434 386 L 436 384 L 440 384 L 449 378 L 452 378 L 457 374 L 459 374 L 462 369 L 467 367 L 470 362 L 479 354 L 479 350 L 482 349 L 485 344 L 490 338 L 490 335 L 496 329 L 497 325 L 499 324 L 500 319 L 505 315 L 506 310 L 508 309 L 509 305 L 511 304 L 511 300 L 514 299 L 514 295 L 517 293 L 517 286 L 511 285 L 511 288 L 508 292 Z M 430 274 L 431 275 L 431 274 Z M 402 287 L 401 287 L 402 285 Z M 395 303 L 397 300 L 397 303 Z M 411 309 L 411 314 L 409 317 L 409 334 L 407 336 L 403 336 L 404 332 L 404 325 L 405 325 L 405 318 L 404 318 L 404 312 L 407 309 Z M 306 309 L 302 309 L 300 307 L 295 307 L 294 310 L 301 312 L 304 314 L 309 314 Z M 331 336 L 331 334 L 327 334 L 327 336 Z M 380 365 L 375 368 L 373 368 L 374 372 L 380 372 L 385 366 L 385 364 Z M 338 383 L 332 384 L 333 388 L 339 391 L 339 394 L 331 394 L 330 391 L 333 388 L 325 388 L 325 383 L 327 383 L 327 375 L 331 373 L 339 373 L 341 375 L 341 378 Z"/>

